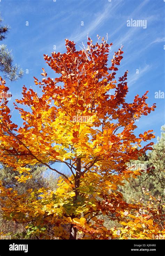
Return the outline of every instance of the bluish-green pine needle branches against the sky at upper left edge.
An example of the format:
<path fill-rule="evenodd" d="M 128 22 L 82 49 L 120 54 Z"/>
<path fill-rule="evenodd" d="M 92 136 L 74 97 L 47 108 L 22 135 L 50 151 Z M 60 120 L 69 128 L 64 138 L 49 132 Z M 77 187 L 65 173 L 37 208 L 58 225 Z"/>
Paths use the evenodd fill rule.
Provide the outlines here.
<path fill-rule="evenodd" d="M 0 17 L 0 23 L 2 18 Z M 9 30 L 9 27 L 6 25 L 0 25 L 0 41 L 5 39 L 5 36 Z M 23 70 L 19 68 L 17 64 L 13 64 L 13 55 L 11 51 L 7 49 L 7 46 L 4 44 L 0 45 L 0 72 L 6 78 L 9 78 L 10 81 L 16 81 L 18 78 L 23 76 Z"/>

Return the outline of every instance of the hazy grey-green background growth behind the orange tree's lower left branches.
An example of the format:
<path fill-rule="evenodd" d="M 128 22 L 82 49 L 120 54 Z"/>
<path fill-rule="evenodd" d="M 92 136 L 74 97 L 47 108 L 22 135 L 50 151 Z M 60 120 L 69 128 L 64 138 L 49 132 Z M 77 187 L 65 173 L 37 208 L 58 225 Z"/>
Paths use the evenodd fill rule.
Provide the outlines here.
<path fill-rule="evenodd" d="M 58 177 L 52 174 L 47 175 L 47 168 L 44 166 L 35 166 L 32 169 L 33 176 L 31 179 L 27 180 L 26 183 L 18 183 L 15 176 L 21 176 L 18 171 L 13 171 L 12 168 L 3 166 L 0 169 L 0 181 L 4 188 L 13 188 L 16 189 L 18 195 L 23 195 L 26 190 L 33 188 L 39 190 L 43 186 L 52 187 L 52 183 L 55 187 Z M 55 182 L 56 181 L 56 182 Z M 5 198 L 4 198 L 5 200 Z M 11 236 L 12 239 L 19 238 L 23 239 L 25 235 L 25 225 L 22 223 L 15 222 L 13 225 L 12 220 L 3 219 L 3 211 L 0 210 L 0 235 Z"/>

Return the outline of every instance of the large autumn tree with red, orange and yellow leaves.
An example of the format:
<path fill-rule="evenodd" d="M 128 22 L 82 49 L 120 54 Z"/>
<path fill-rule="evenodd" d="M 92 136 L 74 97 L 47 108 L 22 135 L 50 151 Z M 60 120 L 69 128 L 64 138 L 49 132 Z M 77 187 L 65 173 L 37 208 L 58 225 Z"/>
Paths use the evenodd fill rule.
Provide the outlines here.
<path fill-rule="evenodd" d="M 7 101 L 1 104 L 0 161 L 22 174 L 16 177 L 18 182 L 31 178 L 29 164 L 44 164 L 61 175 L 56 190 L 31 188 L 22 196 L 1 185 L 4 215 L 26 223 L 26 237 L 151 239 L 152 235 L 162 234 L 160 204 L 128 204 L 117 190 L 125 179 L 142 172 L 129 170 L 127 163 L 152 150 L 153 142 L 144 147 L 141 142 L 155 136 L 149 130 L 136 137 L 134 123 L 156 106 L 146 103 L 147 92 L 142 97 L 136 95 L 133 103 L 126 102 L 128 71 L 118 84 L 115 80 L 123 58 L 122 47 L 108 67 L 112 44 L 104 38 L 98 41 L 93 44 L 88 38 L 87 47 L 76 50 L 74 42 L 66 39 L 66 53 L 44 55 L 58 77 L 47 77 L 44 68 L 42 82 L 34 77 L 42 96 L 23 87 L 22 99 L 14 103 L 23 119 L 22 126 L 11 121 Z M 115 88 L 111 95 L 109 92 Z M 8 90 L 2 78 L 0 89 Z M 59 162 L 70 168 L 70 177 L 56 168 Z M 107 229 L 102 214 L 118 221 L 122 228 Z"/>

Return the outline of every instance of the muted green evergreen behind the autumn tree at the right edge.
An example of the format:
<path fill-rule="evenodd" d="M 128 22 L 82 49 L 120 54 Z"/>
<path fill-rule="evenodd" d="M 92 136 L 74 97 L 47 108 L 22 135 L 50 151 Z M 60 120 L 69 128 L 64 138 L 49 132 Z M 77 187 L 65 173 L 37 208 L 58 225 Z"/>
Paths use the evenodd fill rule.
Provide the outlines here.
<path fill-rule="evenodd" d="M 148 155 L 143 155 L 139 160 L 133 161 L 128 168 L 130 170 L 143 169 L 144 172 L 137 178 L 130 178 L 125 181 L 125 186 L 121 187 L 121 192 L 127 202 L 133 200 L 148 200 L 148 190 L 152 196 L 163 196 L 165 188 L 165 125 L 161 127 L 163 131 L 161 137 L 157 138 L 157 143 Z"/>

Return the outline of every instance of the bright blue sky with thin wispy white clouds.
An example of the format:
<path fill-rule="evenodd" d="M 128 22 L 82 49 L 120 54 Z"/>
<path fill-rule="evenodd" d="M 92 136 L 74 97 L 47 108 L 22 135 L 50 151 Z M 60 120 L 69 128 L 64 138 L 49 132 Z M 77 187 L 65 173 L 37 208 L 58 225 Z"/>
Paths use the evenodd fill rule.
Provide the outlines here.
<path fill-rule="evenodd" d="M 33 76 L 40 78 L 42 67 L 48 76 L 55 77 L 43 59 L 43 54 L 54 51 L 54 45 L 56 52 L 64 52 L 65 38 L 79 44 L 86 43 L 87 34 L 97 41 L 97 34 L 105 37 L 108 33 L 108 42 L 113 43 L 110 59 L 124 45 L 117 75 L 129 71 L 127 101 L 132 102 L 136 94 L 141 96 L 149 90 L 148 103 L 157 104 L 155 112 L 137 122 L 136 134 L 153 129 L 159 136 L 160 127 L 165 124 L 165 104 L 163 98 L 155 98 L 155 92 L 164 92 L 165 85 L 164 7 L 163 0 L 1 0 L 3 23 L 11 27 L 3 43 L 12 49 L 15 62 L 24 71 L 29 70 L 21 80 L 7 81 L 13 99 L 21 96 L 23 85 L 36 90 Z M 131 19 L 146 20 L 147 28 L 127 27 L 127 20 Z M 13 109 L 12 100 L 9 105 Z M 14 110 L 13 121 L 18 120 Z"/>

